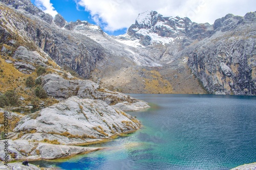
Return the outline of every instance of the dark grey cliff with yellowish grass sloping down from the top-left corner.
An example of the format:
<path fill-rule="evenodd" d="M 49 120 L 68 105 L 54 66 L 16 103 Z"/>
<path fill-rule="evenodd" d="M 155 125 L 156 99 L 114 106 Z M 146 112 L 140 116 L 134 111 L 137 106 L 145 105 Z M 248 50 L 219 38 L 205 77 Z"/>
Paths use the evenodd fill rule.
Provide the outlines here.
<path fill-rule="evenodd" d="M 2 2 L 9 6 L 1 3 L 1 22 L 6 23 L 0 27 L 1 34 L 5 35 L 1 37 L 1 43 L 9 45 L 8 38 L 16 42 L 19 39 L 33 41 L 58 65 L 67 66 L 86 78 L 96 62 L 106 55 L 102 46 L 87 36 L 61 29 L 66 25 L 61 15 L 56 15 L 52 22 L 49 14 L 34 7 L 30 1 Z"/>

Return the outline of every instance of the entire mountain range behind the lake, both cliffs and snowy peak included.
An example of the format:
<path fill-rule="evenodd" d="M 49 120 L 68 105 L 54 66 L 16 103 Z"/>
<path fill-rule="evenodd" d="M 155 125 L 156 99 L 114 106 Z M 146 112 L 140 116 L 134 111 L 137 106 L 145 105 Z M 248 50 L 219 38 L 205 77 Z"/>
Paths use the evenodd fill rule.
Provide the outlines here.
<path fill-rule="evenodd" d="M 255 95 L 255 12 L 228 14 L 209 25 L 146 11 L 126 34 L 115 37 L 87 21 L 52 18 L 28 0 L 1 2 L 8 4 L 1 6 L 2 41 L 20 35 L 60 66 L 102 87 L 126 93 Z"/>

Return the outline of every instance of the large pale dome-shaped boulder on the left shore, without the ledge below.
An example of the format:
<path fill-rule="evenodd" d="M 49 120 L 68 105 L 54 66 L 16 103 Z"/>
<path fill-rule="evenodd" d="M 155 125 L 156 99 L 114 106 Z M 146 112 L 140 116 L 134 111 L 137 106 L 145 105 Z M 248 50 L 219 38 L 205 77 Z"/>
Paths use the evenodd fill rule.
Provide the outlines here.
<path fill-rule="evenodd" d="M 79 144 L 132 132 L 139 120 L 100 100 L 69 99 L 25 116 L 14 129 L 21 139 Z M 34 132 L 34 133 L 31 133 Z"/>

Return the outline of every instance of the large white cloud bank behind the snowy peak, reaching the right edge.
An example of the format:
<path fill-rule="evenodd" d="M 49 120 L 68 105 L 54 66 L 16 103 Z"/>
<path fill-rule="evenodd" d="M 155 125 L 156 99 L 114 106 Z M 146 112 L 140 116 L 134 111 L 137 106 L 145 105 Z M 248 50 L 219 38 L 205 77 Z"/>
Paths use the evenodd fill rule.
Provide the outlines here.
<path fill-rule="evenodd" d="M 41 0 L 42 1 L 42 0 Z M 89 11 L 105 31 L 130 27 L 138 14 L 154 10 L 164 16 L 189 17 L 198 23 L 214 23 L 228 13 L 244 16 L 255 10 L 255 0 L 75 0 Z"/>

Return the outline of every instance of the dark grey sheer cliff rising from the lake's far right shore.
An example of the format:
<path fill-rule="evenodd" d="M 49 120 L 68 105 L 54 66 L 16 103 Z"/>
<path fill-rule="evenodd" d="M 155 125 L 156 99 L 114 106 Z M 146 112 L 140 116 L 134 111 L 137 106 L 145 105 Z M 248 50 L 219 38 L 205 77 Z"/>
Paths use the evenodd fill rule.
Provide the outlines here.
<path fill-rule="evenodd" d="M 186 50 L 188 65 L 210 93 L 255 95 L 254 13 L 217 19 L 215 33 Z"/>

